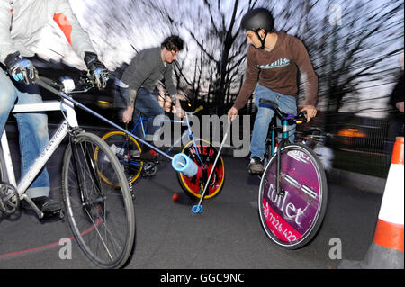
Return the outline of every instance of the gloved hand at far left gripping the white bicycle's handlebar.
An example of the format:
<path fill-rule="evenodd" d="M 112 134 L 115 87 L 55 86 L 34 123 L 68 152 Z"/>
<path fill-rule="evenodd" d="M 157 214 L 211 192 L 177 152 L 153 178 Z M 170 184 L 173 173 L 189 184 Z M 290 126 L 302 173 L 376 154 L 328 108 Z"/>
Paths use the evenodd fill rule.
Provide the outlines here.
<path fill-rule="evenodd" d="M 37 70 L 30 60 L 20 57 L 20 52 L 8 55 L 4 59 L 8 73 L 13 76 L 16 82 L 26 85 L 33 84 L 38 76 Z"/>

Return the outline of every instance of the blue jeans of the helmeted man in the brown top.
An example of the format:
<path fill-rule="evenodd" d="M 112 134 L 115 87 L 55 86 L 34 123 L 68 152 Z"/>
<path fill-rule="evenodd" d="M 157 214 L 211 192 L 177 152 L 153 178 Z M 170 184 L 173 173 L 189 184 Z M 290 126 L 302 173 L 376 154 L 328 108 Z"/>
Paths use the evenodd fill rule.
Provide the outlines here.
<path fill-rule="evenodd" d="M 253 126 L 252 140 L 250 142 L 250 158 L 260 157 L 263 160 L 266 153 L 266 137 L 268 133 L 268 127 L 270 122 L 275 115 L 272 109 L 266 107 L 259 107 L 260 99 L 266 99 L 273 101 L 278 104 L 278 107 L 287 113 L 297 114 L 297 102 L 296 97 L 293 95 L 279 94 L 266 86 L 257 85 L 255 89 L 255 103 L 257 105 L 257 116 L 255 119 L 255 124 Z M 277 125 L 281 125 L 280 119 L 277 118 Z M 290 139 L 291 142 L 294 141 L 294 131 L 295 125 L 291 126 Z"/>

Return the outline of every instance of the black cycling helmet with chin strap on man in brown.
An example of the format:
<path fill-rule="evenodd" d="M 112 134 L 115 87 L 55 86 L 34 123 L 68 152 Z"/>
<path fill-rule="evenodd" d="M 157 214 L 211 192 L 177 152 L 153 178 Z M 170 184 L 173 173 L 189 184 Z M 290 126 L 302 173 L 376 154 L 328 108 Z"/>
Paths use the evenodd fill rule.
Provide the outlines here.
<path fill-rule="evenodd" d="M 261 49 L 265 49 L 265 41 L 268 32 L 273 32 L 275 29 L 275 18 L 273 14 L 266 8 L 257 8 L 248 11 L 242 18 L 240 23 L 241 29 L 255 31 L 258 39 L 262 43 Z M 262 39 L 258 31 L 265 30 L 265 38 Z"/>

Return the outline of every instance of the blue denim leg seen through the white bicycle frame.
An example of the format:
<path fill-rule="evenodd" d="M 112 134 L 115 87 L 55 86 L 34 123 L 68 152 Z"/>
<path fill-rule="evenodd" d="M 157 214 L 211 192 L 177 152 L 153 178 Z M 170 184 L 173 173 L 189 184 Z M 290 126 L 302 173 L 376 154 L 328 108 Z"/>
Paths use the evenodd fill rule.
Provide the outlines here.
<path fill-rule="evenodd" d="M 38 93 L 38 87 L 32 85 L 31 93 Z M 18 92 L 18 103 L 41 103 L 40 94 Z M 20 151 L 21 151 L 21 174 L 27 174 L 35 159 L 49 143 L 48 116 L 45 112 L 27 112 L 14 115 L 20 131 Z M 27 195 L 31 198 L 49 196 L 50 183 L 49 174 L 44 167 L 40 175 L 35 179 L 27 190 Z"/>

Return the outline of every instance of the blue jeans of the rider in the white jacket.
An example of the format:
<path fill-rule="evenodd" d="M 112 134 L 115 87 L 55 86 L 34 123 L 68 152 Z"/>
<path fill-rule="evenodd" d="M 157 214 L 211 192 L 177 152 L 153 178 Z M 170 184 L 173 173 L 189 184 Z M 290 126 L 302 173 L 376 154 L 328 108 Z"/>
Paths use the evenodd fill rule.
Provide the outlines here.
<path fill-rule="evenodd" d="M 22 85 L 17 89 L 0 68 L 0 135 L 3 134 L 5 122 L 14 104 L 41 103 L 37 85 Z M 14 113 L 20 131 L 21 175 L 28 170 L 49 142 L 48 116 L 44 112 Z M 27 190 L 31 198 L 49 196 L 49 175 L 44 168 Z"/>

